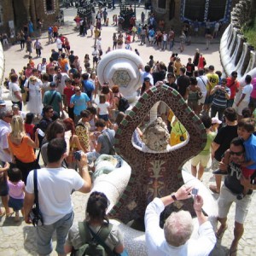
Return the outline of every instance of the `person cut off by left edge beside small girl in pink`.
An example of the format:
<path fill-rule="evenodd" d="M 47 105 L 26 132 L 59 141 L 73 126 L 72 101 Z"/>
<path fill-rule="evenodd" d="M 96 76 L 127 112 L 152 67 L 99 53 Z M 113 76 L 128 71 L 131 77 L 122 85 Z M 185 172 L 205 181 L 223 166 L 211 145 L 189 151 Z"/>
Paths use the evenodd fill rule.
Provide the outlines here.
<path fill-rule="evenodd" d="M 9 170 L 8 162 L 6 162 L 3 167 L 0 166 L 0 195 L 3 203 L 3 207 L 5 208 L 5 211 L 2 211 L 2 209 L 0 208 L 0 218 L 2 218 L 4 214 L 6 214 L 6 217 L 10 217 L 14 213 L 14 212 L 11 212 L 8 207 L 8 193 L 9 193 L 9 187 L 7 183 L 8 170 Z"/>

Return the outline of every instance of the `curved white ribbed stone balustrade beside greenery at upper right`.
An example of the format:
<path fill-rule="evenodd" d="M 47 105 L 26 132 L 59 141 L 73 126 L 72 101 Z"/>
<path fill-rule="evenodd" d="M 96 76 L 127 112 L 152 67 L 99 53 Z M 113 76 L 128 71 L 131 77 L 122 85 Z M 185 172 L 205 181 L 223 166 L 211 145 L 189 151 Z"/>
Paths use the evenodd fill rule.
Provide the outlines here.
<path fill-rule="evenodd" d="M 247 44 L 241 32 L 241 26 L 250 17 L 250 11 L 250 0 L 242 0 L 236 4 L 231 12 L 230 26 L 224 31 L 219 48 L 224 73 L 228 76 L 236 70 L 241 82 L 247 74 L 256 77 L 256 52 Z"/>

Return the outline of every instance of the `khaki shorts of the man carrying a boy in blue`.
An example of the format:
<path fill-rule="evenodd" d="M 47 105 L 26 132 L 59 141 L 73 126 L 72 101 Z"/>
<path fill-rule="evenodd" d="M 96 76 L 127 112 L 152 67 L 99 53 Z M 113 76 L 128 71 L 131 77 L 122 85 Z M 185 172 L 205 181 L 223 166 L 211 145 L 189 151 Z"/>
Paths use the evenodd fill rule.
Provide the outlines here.
<path fill-rule="evenodd" d="M 226 218 L 230 211 L 231 204 L 236 202 L 235 221 L 243 224 L 247 218 L 252 196 L 246 195 L 241 200 L 237 200 L 236 196 L 237 194 L 233 194 L 225 185 L 222 186 L 218 197 L 218 218 Z"/>

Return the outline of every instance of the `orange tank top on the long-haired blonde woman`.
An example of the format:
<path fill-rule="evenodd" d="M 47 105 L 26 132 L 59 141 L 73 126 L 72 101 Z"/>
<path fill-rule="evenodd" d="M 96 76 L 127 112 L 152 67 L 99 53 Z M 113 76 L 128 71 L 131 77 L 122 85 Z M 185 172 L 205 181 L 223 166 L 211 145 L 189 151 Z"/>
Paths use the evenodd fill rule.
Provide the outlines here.
<path fill-rule="evenodd" d="M 8 136 L 9 148 L 11 149 L 15 157 L 23 163 L 32 163 L 34 160 L 36 160 L 36 155 L 34 153 L 34 148 L 29 146 L 27 144 L 27 141 L 28 137 L 25 135 L 22 138 L 20 145 L 17 145 L 15 143 L 12 143 Z"/>

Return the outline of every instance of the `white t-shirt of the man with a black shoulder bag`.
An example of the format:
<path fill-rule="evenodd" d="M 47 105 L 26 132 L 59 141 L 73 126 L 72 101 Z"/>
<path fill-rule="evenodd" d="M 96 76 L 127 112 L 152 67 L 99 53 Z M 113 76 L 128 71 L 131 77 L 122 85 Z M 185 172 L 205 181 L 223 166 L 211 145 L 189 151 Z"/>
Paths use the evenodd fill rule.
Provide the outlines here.
<path fill-rule="evenodd" d="M 34 172 L 29 172 L 26 192 L 34 194 Z M 79 190 L 84 179 L 73 169 L 43 168 L 38 170 L 38 201 L 44 224 L 53 224 L 73 211 L 72 190 Z"/>

